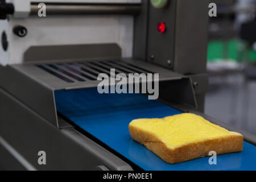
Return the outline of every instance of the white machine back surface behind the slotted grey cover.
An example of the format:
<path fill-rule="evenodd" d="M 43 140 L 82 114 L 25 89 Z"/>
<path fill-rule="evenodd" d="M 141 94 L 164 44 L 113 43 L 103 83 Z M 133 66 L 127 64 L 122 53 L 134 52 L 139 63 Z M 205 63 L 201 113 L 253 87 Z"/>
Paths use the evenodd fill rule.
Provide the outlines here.
<path fill-rule="evenodd" d="M 141 3 L 141 0 L 9 0 L 14 4 L 14 15 L 9 20 L 0 20 L 0 34 L 5 32 L 8 41 L 7 51 L 0 49 L 0 64 L 23 63 L 24 52 L 31 46 L 61 46 L 97 43 L 117 43 L 122 48 L 123 57 L 133 54 L 132 15 L 64 15 L 39 18 L 30 14 L 31 3 Z M 47 8 L 47 7 L 46 7 Z M 15 26 L 27 28 L 23 38 L 13 34 Z"/>

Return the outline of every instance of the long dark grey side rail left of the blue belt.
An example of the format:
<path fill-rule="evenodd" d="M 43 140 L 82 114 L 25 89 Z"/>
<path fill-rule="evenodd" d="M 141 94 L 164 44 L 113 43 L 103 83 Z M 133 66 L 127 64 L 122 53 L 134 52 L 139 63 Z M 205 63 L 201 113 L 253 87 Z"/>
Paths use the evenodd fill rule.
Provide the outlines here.
<path fill-rule="evenodd" d="M 129 164 L 73 128 L 59 130 L 0 89 L 0 135 L 39 170 L 131 170 Z M 46 164 L 38 164 L 38 152 Z M 2 154 L 2 153 L 1 153 Z"/>

